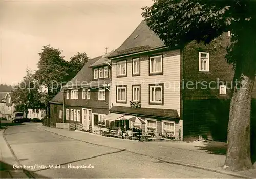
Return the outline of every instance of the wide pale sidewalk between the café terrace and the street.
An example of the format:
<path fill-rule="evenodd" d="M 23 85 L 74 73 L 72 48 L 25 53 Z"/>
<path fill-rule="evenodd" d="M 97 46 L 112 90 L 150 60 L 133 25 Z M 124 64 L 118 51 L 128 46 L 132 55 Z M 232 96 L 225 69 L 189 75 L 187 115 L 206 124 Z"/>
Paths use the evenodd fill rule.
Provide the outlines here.
<path fill-rule="evenodd" d="M 225 155 L 210 154 L 202 150 L 203 143 L 185 142 L 138 142 L 94 135 L 87 132 L 69 131 L 38 125 L 46 131 L 57 135 L 73 138 L 93 145 L 101 145 L 116 149 L 126 149 L 127 152 L 150 156 L 160 161 L 190 166 L 194 168 L 229 174 L 236 177 L 256 178 L 256 169 L 245 172 L 227 172 L 222 170 Z M 255 166 L 255 165 L 254 165 Z"/>

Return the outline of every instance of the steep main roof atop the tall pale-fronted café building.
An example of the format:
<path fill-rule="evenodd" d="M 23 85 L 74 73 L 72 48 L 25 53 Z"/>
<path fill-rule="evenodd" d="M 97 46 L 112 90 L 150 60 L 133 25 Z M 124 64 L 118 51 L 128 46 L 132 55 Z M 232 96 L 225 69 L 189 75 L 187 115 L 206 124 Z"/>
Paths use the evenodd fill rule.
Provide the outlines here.
<path fill-rule="evenodd" d="M 164 47 L 164 41 L 143 20 L 133 33 L 108 58 Z"/>

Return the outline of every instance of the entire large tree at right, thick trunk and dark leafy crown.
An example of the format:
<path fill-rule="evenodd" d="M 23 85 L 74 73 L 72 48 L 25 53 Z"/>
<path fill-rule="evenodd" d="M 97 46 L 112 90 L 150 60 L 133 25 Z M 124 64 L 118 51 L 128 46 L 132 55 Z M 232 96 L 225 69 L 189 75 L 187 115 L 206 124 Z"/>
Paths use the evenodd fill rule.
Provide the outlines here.
<path fill-rule="evenodd" d="M 251 91 L 256 74 L 256 1 L 159 0 L 142 8 L 146 24 L 166 46 L 181 48 L 196 40 L 205 44 L 231 31 L 226 60 L 233 65 L 235 88 L 230 103 L 224 169 L 253 168 L 250 159 Z M 241 87 L 241 86 L 240 86 Z"/>

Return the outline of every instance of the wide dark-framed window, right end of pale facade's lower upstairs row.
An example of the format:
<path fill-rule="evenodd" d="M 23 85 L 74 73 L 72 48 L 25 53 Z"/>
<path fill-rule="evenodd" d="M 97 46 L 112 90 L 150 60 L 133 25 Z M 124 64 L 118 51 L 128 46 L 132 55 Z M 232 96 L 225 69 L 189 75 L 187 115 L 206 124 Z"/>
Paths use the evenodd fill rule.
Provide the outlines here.
<path fill-rule="evenodd" d="M 163 105 L 163 84 L 150 84 L 150 104 Z"/>

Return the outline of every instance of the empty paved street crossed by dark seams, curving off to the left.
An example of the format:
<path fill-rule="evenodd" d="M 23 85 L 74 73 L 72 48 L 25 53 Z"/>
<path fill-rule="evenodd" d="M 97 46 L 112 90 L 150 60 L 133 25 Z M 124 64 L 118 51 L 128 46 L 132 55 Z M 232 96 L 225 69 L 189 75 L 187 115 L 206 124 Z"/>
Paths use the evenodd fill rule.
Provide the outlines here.
<path fill-rule="evenodd" d="M 35 178 L 235 178 L 84 143 L 31 123 L 7 128 L 5 138 L 22 167 Z"/>

